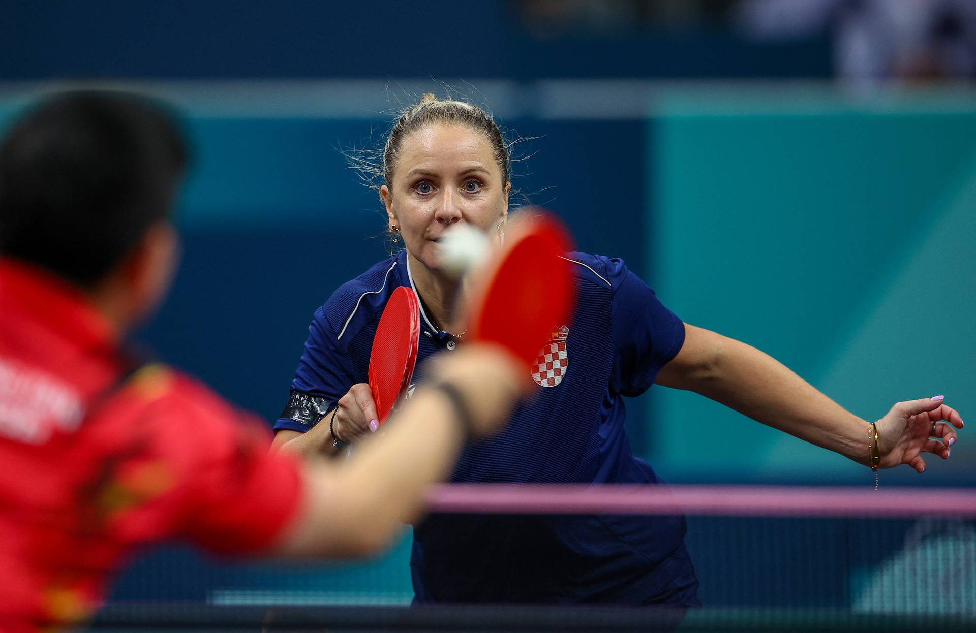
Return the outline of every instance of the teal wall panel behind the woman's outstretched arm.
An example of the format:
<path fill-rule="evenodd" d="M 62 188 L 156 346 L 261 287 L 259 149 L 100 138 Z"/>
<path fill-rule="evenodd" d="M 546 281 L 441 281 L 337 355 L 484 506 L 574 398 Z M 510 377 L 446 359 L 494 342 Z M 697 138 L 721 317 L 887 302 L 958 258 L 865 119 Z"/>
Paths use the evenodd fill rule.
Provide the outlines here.
<path fill-rule="evenodd" d="M 865 418 L 945 394 L 976 411 L 976 105 L 971 99 L 674 94 L 649 125 L 647 277 L 686 322 L 768 352 Z M 660 389 L 672 480 L 867 485 L 867 470 Z M 866 447 L 867 450 L 867 447 Z M 971 483 L 947 463 L 881 485 Z"/>

